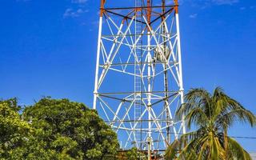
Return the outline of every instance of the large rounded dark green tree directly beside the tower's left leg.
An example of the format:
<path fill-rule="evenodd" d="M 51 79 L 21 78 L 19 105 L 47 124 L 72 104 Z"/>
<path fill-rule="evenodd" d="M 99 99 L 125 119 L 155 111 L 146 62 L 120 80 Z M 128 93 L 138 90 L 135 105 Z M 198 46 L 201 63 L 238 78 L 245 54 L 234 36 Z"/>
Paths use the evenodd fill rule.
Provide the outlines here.
<path fill-rule="evenodd" d="M 98 160 L 117 154 L 117 135 L 82 103 L 42 98 L 23 117 L 34 128 L 23 158 Z"/>

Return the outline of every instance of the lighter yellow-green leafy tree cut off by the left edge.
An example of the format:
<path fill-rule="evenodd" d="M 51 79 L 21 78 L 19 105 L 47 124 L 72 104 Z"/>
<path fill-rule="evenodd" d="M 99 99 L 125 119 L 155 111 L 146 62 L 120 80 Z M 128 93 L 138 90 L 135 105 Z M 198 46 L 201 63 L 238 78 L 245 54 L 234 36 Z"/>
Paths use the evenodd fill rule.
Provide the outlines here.
<path fill-rule="evenodd" d="M 28 122 L 22 120 L 18 112 L 21 107 L 17 99 L 0 101 L 0 158 L 18 159 L 22 146 L 31 132 Z"/>

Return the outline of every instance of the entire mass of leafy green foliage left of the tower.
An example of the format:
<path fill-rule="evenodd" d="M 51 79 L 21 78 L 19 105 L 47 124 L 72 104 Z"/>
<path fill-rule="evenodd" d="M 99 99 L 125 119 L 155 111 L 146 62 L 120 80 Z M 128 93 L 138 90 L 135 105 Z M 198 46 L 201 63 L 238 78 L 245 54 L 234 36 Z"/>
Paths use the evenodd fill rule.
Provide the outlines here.
<path fill-rule="evenodd" d="M 16 100 L 0 103 L 2 159 L 114 159 L 117 135 L 95 110 L 68 99 L 42 98 L 18 114 Z"/>

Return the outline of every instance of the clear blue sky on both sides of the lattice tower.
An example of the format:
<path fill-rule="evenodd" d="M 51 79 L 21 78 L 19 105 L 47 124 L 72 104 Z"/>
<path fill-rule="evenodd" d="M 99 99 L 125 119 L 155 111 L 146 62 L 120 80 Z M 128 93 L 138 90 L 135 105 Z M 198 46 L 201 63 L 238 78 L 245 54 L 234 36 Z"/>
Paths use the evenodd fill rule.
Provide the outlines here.
<path fill-rule="evenodd" d="M 92 106 L 99 2 L 1 0 L 0 98 Z M 186 91 L 222 86 L 256 114 L 256 1 L 182 0 L 180 23 Z M 256 137 L 256 129 L 240 124 L 230 135 Z M 256 139 L 238 141 L 256 152 Z"/>

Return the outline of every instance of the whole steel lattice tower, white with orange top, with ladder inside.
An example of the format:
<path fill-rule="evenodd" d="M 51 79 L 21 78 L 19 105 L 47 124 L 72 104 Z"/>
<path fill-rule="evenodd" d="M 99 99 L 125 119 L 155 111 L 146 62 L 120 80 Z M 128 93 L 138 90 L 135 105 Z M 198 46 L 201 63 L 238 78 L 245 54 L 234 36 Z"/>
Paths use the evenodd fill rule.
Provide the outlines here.
<path fill-rule="evenodd" d="M 101 0 L 94 109 L 122 148 L 165 150 L 182 103 L 178 0 Z"/>

